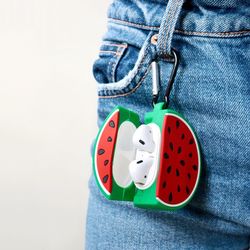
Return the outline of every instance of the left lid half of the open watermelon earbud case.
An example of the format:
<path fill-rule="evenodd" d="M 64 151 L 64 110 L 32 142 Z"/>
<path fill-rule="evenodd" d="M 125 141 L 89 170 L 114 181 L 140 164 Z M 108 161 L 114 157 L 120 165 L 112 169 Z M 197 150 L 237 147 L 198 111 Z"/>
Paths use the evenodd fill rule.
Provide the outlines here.
<path fill-rule="evenodd" d="M 135 148 L 132 136 L 140 125 L 139 116 L 122 107 L 116 107 L 101 127 L 93 155 L 97 184 L 106 198 L 132 201 L 135 185 L 128 165 Z"/>

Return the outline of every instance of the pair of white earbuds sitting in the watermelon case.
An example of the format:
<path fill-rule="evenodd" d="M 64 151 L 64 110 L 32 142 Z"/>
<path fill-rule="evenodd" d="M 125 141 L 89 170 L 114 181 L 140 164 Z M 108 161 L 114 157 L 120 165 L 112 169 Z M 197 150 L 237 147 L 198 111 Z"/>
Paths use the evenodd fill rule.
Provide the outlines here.
<path fill-rule="evenodd" d="M 149 125 L 143 124 L 137 128 L 133 135 L 133 144 L 140 156 L 129 164 L 129 172 L 135 184 L 144 185 L 154 162 L 152 153 L 155 150 L 155 142 Z"/>

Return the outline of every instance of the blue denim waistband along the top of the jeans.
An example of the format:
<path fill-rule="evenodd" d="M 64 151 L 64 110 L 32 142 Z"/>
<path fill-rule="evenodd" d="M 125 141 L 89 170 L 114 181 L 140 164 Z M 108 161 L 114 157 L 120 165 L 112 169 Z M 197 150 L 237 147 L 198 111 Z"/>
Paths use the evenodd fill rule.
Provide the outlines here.
<path fill-rule="evenodd" d="M 167 3 L 166 0 L 114 0 L 108 10 L 109 21 L 158 31 Z M 250 4 L 247 0 L 185 1 L 175 31 L 215 36 L 249 32 Z"/>

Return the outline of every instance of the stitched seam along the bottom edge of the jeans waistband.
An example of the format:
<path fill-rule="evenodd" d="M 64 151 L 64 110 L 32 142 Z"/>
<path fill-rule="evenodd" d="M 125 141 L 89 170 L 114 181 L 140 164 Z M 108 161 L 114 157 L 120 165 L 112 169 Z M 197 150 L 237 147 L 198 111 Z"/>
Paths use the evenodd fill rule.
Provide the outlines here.
<path fill-rule="evenodd" d="M 131 27 L 137 27 L 142 29 L 148 29 L 148 30 L 156 30 L 159 31 L 160 26 L 149 26 L 149 25 L 143 25 L 139 23 L 134 22 L 128 22 L 117 18 L 111 18 L 109 17 L 108 20 L 110 22 L 118 23 L 118 24 L 127 24 Z M 240 31 L 223 31 L 223 32 L 203 32 L 203 31 L 189 31 L 189 30 L 179 30 L 176 29 L 175 33 L 180 33 L 183 35 L 197 35 L 197 36 L 211 36 L 211 37 L 235 37 L 235 36 L 244 36 L 248 35 L 250 33 L 250 30 L 240 30 Z"/>

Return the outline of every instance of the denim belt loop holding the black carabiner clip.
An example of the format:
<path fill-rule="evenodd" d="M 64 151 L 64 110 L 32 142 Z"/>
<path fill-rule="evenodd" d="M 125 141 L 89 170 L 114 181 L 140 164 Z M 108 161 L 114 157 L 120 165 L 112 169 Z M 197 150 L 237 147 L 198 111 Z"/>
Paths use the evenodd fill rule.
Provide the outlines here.
<path fill-rule="evenodd" d="M 176 23 L 178 21 L 184 0 L 169 0 L 161 21 L 158 39 L 157 53 L 160 57 L 170 57 L 171 43 Z"/>

